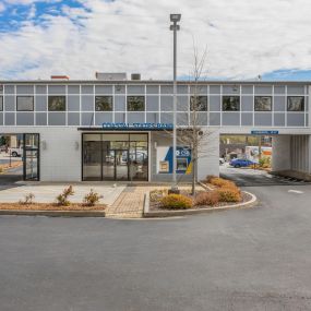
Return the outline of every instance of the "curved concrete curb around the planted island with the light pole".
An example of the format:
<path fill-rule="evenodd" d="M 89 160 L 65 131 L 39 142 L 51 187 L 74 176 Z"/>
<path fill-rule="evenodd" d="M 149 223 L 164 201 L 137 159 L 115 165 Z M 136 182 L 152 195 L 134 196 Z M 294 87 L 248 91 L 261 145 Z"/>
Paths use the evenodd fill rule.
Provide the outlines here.
<path fill-rule="evenodd" d="M 237 208 L 249 208 L 253 207 L 258 203 L 258 199 L 254 194 L 242 191 L 251 196 L 248 202 L 232 204 L 232 205 L 224 205 L 219 207 L 205 207 L 205 208 L 191 208 L 191 210 L 180 210 L 180 211 L 155 211 L 151 212 L 149 206 L 144 206 L 144 217 L 174 217 L 174 216 L 187 216 L 187 215 L 196 215 L 202 213 L 213 213 L 213 212 L 220 212 L 220 211 L 228 211 L 228 210 L 237 210 Z M 149 198 L 149 193 L 146 193 L 145 196 Z M 147 200 L 145 200 L 146 202 Z"/>

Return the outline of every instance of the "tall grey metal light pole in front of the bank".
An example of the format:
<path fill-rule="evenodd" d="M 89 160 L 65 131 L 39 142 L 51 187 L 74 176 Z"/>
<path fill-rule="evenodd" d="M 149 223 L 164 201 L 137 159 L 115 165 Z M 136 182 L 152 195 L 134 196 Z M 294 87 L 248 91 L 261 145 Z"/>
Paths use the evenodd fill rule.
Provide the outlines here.
<path fill-rule="evenodd" d="M 170 22 L 172 23 L 169 27 L 174 33 L 174 61 L 172 61 L 172 76 L 174 76 L 174 85 L 172 85 L 172 191 L 178 191 L 177 179 L 176 179 L 176 144 L 177 144 L 177 32 L 180 29 L 180 26 L 177 24 L 181 20 L 181 14 L 170 14 Z"/>

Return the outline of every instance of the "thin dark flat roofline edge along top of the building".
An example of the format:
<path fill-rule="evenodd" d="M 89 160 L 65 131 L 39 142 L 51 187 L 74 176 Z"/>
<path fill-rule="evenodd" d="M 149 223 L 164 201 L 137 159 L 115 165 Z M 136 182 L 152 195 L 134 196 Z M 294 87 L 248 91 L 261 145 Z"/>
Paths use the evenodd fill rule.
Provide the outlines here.
<path fill-rule="evenodd" d="M 202 84 L 202 85 L 235 85 L 235 84 L 280 84 L 280 85 L 301 85 L 301 84 L 310 84 L 311 81 L 243 81 L 243 80 L 206 80 L 206 81 L 178 81 L 179 85 L 189 85 L 189 84 Z M 120 80 L 120 81 L 103 81 L 103 80 L 1 80 L 0 84 L 172 84 L 171 80 Z"/>

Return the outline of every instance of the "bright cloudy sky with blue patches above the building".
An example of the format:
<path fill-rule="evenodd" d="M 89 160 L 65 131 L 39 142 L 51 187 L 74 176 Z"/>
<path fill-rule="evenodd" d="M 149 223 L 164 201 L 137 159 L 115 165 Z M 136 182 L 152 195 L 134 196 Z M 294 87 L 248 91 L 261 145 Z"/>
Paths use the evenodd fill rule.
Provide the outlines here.
<path fill-rule="evenodd" d="M 171 79 L 170 12 L 182 13 L 180 79 L 193 46 L 207 48 L 207 79 L 311 79 L 308 0 L 0 0 L 0 79 Z"/>

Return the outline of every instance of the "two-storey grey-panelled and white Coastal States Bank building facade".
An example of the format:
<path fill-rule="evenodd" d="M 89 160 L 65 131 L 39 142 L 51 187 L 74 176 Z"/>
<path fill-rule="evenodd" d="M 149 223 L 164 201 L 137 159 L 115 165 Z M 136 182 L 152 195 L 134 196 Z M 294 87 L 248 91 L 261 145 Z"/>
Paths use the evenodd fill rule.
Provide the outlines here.
<path fill-rule="evenodd" d="M 308 82 L 178 82 L 177 127 L 206 135 L 199 178 L 218 175 L 219 135 L 271 132 L 275 170 L 310 175 Z M 24 135 L 24 178 L 170 181 L 170 81 L 2 81 L 0 133 Z M 181 180 L 191 149 L 177 148 Z"/>

